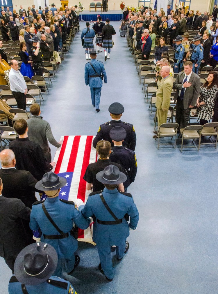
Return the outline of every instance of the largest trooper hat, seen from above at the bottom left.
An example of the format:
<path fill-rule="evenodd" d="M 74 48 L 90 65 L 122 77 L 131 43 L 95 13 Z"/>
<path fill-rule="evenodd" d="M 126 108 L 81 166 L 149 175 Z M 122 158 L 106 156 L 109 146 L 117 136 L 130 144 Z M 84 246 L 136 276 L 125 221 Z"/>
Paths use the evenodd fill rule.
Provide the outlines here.
<path fill-rule="evenodd" d="M 14 263 L 14 274 L 25 285 L 38 285 L 50 278 L 58 264 L 54 247 L 47 243 L 33 243 L 25 247 Z"/>

